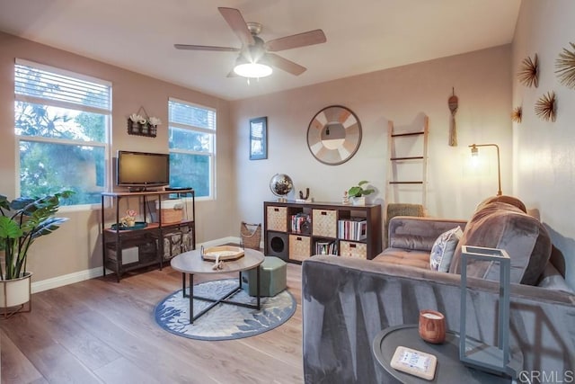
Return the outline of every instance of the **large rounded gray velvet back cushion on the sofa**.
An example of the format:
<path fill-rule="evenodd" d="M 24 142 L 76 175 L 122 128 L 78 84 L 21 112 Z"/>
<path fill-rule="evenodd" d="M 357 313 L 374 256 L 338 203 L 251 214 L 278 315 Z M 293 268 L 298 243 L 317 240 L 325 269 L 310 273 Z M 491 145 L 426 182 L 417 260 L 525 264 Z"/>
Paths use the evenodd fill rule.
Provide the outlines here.
<path fill-rule="evenodd" d="M 511 258 L 511 282 L 535 285 L 551 255 L 543 224 L 506 202 L 483 204 L 465 226 L 449 272 L 460 273 L 462 246 L 505 249 Z M 500 263 L 472 260 L 467 275 L 499 281 Z"/>

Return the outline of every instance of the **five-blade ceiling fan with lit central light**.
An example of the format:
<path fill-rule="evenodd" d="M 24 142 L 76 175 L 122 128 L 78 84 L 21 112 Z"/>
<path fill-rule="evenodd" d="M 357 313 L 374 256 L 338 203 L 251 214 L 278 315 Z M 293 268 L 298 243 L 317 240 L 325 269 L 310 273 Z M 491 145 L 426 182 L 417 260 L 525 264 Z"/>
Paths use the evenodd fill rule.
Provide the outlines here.
<path fill-rule="evenodd" d="M 218 7 L 217 9 L 242 42 L 241 48 L 190 44 L 174 44 L 173 46 L 176 49 L 239 52 L 234 70 L 228 76 L 234 76 L 234 74 L 248 78 L 269 76 L 272 72 L 271 67 L 277 67 L 292 75 L 301 75 L 305 72 L 305 67 L 272 52 L 320 44 L 327 40 L 322 30 L 314 30 L 263 41 L 258 37 L 261 32 L 261 23 L 245 22 L 242 13 L 235 8 Z"/>

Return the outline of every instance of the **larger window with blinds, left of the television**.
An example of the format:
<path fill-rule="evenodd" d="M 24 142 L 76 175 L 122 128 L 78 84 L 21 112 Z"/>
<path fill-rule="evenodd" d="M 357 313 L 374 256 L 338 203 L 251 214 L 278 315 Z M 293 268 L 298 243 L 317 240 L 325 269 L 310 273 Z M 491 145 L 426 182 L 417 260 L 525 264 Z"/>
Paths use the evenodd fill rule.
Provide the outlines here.
<path fill-rule="evenodd" d="M 14 121 L 20 195 L 75 191 L 66 205 L 100 201 L 111 117 L 111 85 L 16 59 Z"/>

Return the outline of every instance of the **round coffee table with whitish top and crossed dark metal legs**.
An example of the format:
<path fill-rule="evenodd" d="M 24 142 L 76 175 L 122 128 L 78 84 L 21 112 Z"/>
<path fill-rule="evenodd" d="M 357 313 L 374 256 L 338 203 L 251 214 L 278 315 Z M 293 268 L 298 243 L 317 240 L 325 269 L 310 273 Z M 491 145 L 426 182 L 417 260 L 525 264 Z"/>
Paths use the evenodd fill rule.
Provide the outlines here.
<path fill-rule="evenodd" d="M 260 309 L 260 264 L 263 263 L 264 256 L 260 251 L 255 249 L 245 249 L 242 258 L 233 261 L 227 261 L 223 263 L 221 269 L 213 269 L 214 262 L 204 261 L 201 258 L 199 250 L 193 250 L 189 252 L 184 252 L 183 254 L 175 256 L 172 261 L 172 268 L 176 271 L 181 272 L 181 294 L 184 298 L 190 298 L 190 324 L 193 324 L 194 320 L 198 317 L 204 315 L 209 309 L 214 308 L 219 303 L 232 304 L 240 307 Z M 248 303 L 241 303 L 233 301 L 230 298 L 234 296 L 239 290 L 242 290 L 242 272 L 256 269 L 256 299 L 257 304 L 252 305 Z M 233 290 L 227 292 L 224 296 L 219 299 L 210 299 L 206 297 L 201 297 L 194 295 L 194 274 L 204 273 L 204 274 L 217 274 L 217 273 L 229 273 L 229 272 L 239 272 L 238 286 Z M 190 277 L 190 294 L 186 294 L 186 274 Z M 207 308 L 202 309 L 199 314 L 194 316 L 194 299 L 210 301 Z"/>

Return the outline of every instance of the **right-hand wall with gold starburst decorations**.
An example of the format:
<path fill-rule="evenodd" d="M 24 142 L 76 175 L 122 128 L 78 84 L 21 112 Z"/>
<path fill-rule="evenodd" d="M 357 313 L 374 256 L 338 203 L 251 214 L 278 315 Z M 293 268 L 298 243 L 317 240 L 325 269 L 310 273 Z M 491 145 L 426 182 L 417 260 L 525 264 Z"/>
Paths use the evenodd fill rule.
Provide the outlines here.
<path fill-rule="evenodd" d="M 527 206 L 539 210 L 549 229 L 566 278 L 575 288 L 575 90 L 561 85 L 554 74 L 555 59 L 575 42 L 575 2 L 524 0 L 513 42 L 513 71 L 535 53 L 539 58 L 539 86 L 528 88 L 513 76 L 513 105 L 523 106 L 523 121 L 514 124 L 515 190 Z M 571 49 L 572 51 L 573 49 Z M 542 121 L 534 105 L 553 91 L 557 99 L 555 122 Z"/>

